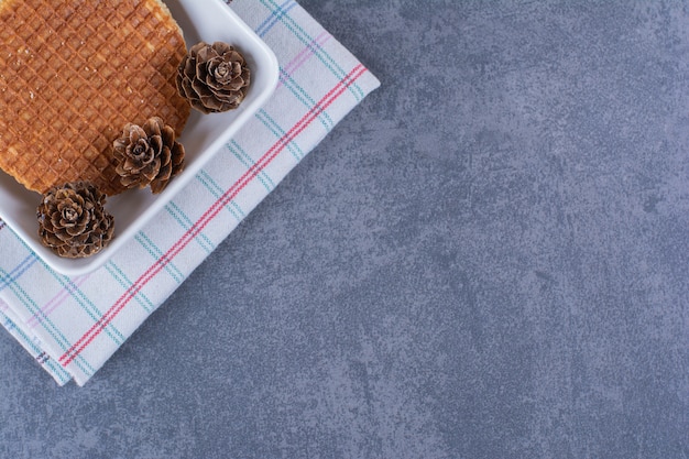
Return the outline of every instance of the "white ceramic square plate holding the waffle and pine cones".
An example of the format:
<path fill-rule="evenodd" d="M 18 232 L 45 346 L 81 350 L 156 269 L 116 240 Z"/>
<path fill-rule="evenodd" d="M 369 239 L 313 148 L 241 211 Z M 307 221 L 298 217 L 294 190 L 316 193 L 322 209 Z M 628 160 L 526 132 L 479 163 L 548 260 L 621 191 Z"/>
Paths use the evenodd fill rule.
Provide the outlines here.
<path fill-rule="evenodd" d="M 55 271 L 87 274 L 105 264 L 112 254 L 143 228 L 184 188 L 234 133 L 265 103 L 277 84 L 275 55 L 265 43 L 221 0 L 164 0 L 182 30 L 187 47 L 205 41 L 226 42 L 242 52 L 251 68 L 251 86 L 240 107 L 223 113 L 201 114 L 192 110 L 179 142 L 185 147 L 185 170 L 163 193 L 147 188 L 128 190 L 108 198 L 106 208 L 114 217 L 116 237 L 101 252 L 86 259 L 64 259 L 39 240 L 36 207 L 41 195 L 25 189 L 0 171 L 0 218 Z M 1 248 L 0 248 L 1 253 Z"/>

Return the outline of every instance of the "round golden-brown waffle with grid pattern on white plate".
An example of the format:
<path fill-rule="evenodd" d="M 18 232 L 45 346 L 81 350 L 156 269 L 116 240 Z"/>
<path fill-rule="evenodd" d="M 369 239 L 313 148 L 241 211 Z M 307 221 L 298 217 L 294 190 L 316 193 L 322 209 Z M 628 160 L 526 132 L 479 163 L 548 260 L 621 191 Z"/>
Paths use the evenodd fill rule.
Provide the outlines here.
<path fill-rule="evenodd" d="M 112 141 L 154 116 L 182 133 L 185 54 L 158 0 L 0 0 L 0 167 L 39 193 L 123 192 Z"/>

